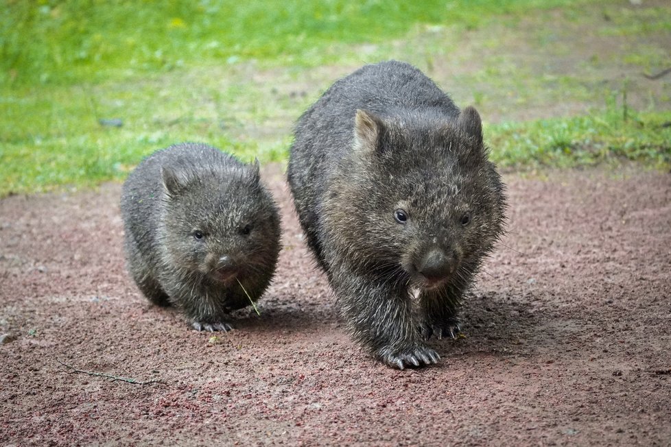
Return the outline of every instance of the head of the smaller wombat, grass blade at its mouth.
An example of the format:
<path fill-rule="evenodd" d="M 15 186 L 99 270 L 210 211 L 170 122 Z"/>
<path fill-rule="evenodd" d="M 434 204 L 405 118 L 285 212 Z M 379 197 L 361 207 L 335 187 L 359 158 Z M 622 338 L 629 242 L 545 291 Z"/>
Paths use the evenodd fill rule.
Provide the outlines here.
<path fill-rule="evenodd" d="M 224 284 L 269 278 L 279 217 L 259 165 L 163 166 L 162 242 L 169 263 Z"/>

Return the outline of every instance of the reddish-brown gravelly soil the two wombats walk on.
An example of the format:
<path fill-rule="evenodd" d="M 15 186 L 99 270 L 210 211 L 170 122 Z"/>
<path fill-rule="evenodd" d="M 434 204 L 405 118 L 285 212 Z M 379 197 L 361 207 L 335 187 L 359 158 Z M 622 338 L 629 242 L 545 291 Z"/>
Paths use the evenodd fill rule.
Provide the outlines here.
<path fill-rule="evenodd" d="M 0 201 L 1 445 L 671 444 L 671 175 L 506 176 L 465 337 L 398 371 L 344 334 L 267 174 L 279 271 L 215 339 L 126 275 L 118 184 Z"/>

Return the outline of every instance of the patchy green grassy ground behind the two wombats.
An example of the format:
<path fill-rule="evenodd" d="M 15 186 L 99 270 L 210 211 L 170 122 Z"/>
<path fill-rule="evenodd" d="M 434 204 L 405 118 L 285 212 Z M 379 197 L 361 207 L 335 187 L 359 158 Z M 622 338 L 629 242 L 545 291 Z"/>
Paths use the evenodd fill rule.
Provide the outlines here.
<path fill-rule="evenodd" d="M 0 197 L 121 180 L 179 141 L 283 161 L 292 123 L 325 88 L 389 58 L 475 104 L 504 167 L 671 164 L 668 81 L 636 77 L 670 63 L 671 7 L 0 1 Z M 614 70 L 624 82 L 604 81 Z"/>

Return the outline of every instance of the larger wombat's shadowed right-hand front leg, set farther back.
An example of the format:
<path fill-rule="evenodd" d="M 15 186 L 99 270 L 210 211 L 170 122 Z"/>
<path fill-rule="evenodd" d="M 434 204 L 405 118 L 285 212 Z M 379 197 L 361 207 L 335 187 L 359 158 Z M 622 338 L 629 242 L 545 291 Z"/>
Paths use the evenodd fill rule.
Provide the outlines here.
<path fill-rule="evenodd" d="M 423 291 L 420 295 L 423 318 L 419 331 L 423 339 L 432 335 L 438 339 L 456 338 L 460 333 L 461 322 L 458 317 L 462 289 L 448 285 L 445 289 Z"/>

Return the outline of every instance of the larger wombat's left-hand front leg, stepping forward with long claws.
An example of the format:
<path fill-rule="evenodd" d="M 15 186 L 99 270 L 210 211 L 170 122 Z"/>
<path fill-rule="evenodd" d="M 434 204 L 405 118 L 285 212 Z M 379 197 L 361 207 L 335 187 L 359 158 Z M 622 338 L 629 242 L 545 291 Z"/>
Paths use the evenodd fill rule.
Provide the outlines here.
<path fill-rule="evenodd" d="M 400 370 L 438 363 L 414 328 L 405 291 L 352 273 L 334 276 L 333 285 L 353 337 L 377 359 Z"/>

